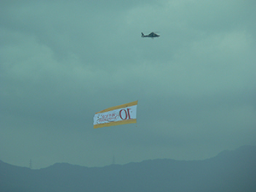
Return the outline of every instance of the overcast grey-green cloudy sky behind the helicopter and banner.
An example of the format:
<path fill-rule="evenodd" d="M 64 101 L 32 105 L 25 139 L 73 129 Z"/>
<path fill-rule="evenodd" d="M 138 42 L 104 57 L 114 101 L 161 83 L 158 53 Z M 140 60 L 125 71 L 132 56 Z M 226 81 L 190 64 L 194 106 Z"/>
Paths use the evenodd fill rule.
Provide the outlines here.
<path fill-rule="evenodd" d="M 205 160 L 256 145 L 253 0 L 0 2 L 0 160 Z M 160 38 L 142 38 L 157 32 Z M 138 101 L 137 124 L 93 129 Z"/>

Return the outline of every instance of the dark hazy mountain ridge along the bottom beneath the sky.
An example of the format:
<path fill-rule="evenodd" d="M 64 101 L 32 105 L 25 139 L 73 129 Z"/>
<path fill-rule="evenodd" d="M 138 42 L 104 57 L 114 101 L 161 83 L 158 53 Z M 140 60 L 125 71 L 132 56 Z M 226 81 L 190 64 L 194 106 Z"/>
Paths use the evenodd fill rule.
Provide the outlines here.
<path fill-rule="evenodd" d="M 57 163 L 31 170 L 0 160 L 1 192 L 255 192 L 256 146 L 207 160 L 144 160 L 104 167 Z"/>

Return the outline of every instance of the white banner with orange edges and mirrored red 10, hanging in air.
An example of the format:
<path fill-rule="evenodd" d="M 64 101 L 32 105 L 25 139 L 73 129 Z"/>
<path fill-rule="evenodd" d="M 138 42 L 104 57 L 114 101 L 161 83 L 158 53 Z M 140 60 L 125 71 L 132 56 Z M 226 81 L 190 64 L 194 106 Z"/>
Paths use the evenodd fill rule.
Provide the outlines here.
<path fill-rule="evenodd" d="M 137 101 L 123 105 L 106 108 L 95 113 L 93 118 L 93 128 L 104 126 L 134 124 L 137 122 Z"/>

